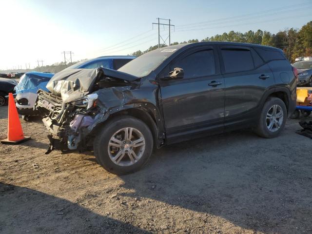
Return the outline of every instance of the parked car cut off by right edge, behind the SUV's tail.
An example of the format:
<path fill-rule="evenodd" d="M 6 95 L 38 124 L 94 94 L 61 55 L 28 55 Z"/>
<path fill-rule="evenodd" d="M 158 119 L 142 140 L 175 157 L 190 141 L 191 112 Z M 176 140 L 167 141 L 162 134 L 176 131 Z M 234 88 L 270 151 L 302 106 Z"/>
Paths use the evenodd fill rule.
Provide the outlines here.
<path fill-rule="evenodd" d="M 299 61 L 292 64 L 298 71 L 298 85 L 312 87 L 312 61 Z"/>

